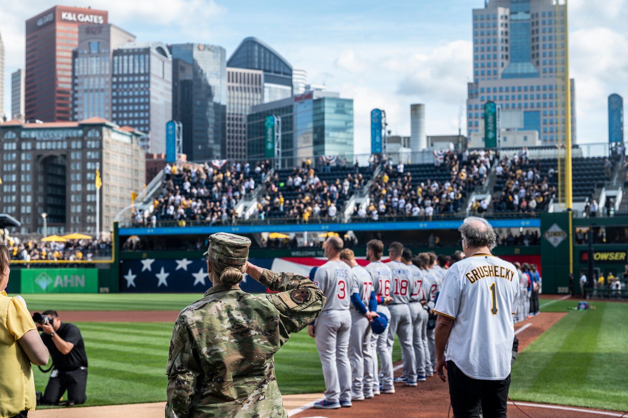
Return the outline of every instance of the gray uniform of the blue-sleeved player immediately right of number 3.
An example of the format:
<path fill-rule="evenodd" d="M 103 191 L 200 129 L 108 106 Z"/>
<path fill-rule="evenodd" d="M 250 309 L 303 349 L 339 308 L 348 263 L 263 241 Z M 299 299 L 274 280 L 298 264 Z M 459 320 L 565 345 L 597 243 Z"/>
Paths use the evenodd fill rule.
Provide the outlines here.
<path fill-rule="evenodd" d="M 360 300 L 369 309 L 373 279 L 360 265 L 351 267 L 353 286 L 351 294 L 360 295 Z M 351 313 L 351 333 L 349 338 L 349 362 L 351 363 L 351 396 L 359 398 L 372 393 L 373 354 L 371 352 L 371 326 L 369 320 L 353 304 Z M 365 370 L 367 371 L 365 373 Z"/>

